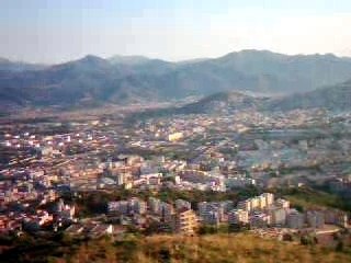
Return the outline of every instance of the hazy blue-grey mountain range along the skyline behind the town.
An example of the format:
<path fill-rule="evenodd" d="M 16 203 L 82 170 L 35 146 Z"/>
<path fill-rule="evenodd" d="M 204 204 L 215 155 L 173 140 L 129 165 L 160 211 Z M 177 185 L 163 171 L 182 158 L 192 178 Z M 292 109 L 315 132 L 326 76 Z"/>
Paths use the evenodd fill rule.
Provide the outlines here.
<path fill-rule="evenodd" d="M 332 87 L 349 79 L 351 58 L 331 54 L 287 56 L 268 50 L 242 50 L 219 58 L 182 62 L 143 56 L 104 59 L 89 55 L 53 66 L 0 59 L 0 104 L 125 105 L 226 92 L 264 96 L 308 92 L 313 96 L 317 88 Z M 295 101 L 299 96 L 284 98 L 281 103 L 294 107 L 293 102 L 284 100 Z M 308 100 L 309 96 L 303 98 Z M 283 104 L 278 100 L 274 105 L 279 108 Z"/>

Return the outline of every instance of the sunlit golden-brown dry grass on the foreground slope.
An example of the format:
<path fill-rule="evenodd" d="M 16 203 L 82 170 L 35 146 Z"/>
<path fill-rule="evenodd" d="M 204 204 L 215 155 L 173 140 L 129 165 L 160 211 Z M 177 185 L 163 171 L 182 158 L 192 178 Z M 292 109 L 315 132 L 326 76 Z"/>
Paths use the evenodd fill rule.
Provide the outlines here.
<path fill-rule="evenodd" d="M 92 241 L 82 245 L 68 262 L 342 263 L 351 262 L 351 254 L 267 240 L 247 233 L 154 236 L 117 244 L 109 240 Z"/>

